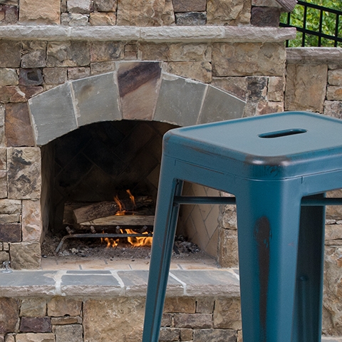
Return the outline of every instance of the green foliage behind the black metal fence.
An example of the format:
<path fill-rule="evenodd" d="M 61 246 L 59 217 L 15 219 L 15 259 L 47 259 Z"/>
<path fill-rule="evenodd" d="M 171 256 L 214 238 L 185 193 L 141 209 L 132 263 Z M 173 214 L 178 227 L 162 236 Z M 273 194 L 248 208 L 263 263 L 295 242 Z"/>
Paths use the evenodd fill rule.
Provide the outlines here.
<path fill-rule="evenodd" d="M 328 9 L 337 9 L 342 11 L 342 1 L 336 0 L 307 0 L 309 4 L 316 4 L 324 6 Z M 287 13 L 281 14 L 281 23 L 287 22 Z M 297 4 L 294 11 L 291 12 L 290 24 L 292 26 L 303 28 L 304 6 Z M 318 32 L 319 30 L 320 11 L 318 9 L 311 9 L 308 7 L 306 12 L 306 28 Z M 322 33 L 333 36 L 335 34 L 336 14 L 323 11 Z M 339 18 L 338 36 L 342 37 L 342 16 Z M 297 47 L 302 45 L 303 33 L 297 31 L 296 39 L 289 41 L 289 47 Z M 333 46 L 333 41 L 327 38 L 322 38 L 321 46 Z M 318 46 L 318 36 L 306 33 L 305 46 Z M 338 43 L 342 47 L 342 43 Z"/>

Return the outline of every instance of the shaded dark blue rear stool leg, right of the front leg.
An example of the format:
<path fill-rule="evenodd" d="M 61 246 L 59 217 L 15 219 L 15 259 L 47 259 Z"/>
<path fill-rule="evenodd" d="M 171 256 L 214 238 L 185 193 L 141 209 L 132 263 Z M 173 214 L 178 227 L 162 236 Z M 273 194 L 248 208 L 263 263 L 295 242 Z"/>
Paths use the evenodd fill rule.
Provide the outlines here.
<path fill-rule="evenodd" d="M 321 341 L 324 225 L 325 207 L 301 207 L 292 342 Z"/>

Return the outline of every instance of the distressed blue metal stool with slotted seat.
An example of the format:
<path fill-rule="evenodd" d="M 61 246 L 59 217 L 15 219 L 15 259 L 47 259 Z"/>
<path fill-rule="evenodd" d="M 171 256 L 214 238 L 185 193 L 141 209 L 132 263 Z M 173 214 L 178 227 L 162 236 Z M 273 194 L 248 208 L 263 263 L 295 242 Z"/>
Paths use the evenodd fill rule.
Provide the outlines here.
<path fill-rule="evenodd" d="M 323 197 L 342 187 L 342 120 L 287 112 L 165 134 L 142 342 L 158 341 L 179 204 L 210 202 L 180 196 L 183 181 L 235 195 L 244 342 L 321 341 L 324 205 L 338 202 Z"/>

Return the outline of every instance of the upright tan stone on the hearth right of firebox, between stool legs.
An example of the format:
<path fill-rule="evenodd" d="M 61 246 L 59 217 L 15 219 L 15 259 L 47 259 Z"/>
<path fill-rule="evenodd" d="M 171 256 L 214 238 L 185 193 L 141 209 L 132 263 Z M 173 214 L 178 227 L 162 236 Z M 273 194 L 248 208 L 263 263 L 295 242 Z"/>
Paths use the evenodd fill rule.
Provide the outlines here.
<path fill-rule="evenodd" d="M 218 262 L 222 267 L 237 267 L 239 264 L 237 231 L 219 228 Z"/>

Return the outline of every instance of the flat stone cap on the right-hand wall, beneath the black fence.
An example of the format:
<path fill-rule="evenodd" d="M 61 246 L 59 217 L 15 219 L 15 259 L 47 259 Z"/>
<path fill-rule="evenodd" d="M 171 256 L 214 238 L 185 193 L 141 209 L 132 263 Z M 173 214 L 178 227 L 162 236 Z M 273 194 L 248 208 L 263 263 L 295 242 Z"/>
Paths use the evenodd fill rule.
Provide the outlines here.
<path fill-rule="evenodd" d="M 286 61 L 288 63 L 312 63 L 322 61 L 342 61 L 342 48 L 286 48 Z"/>

